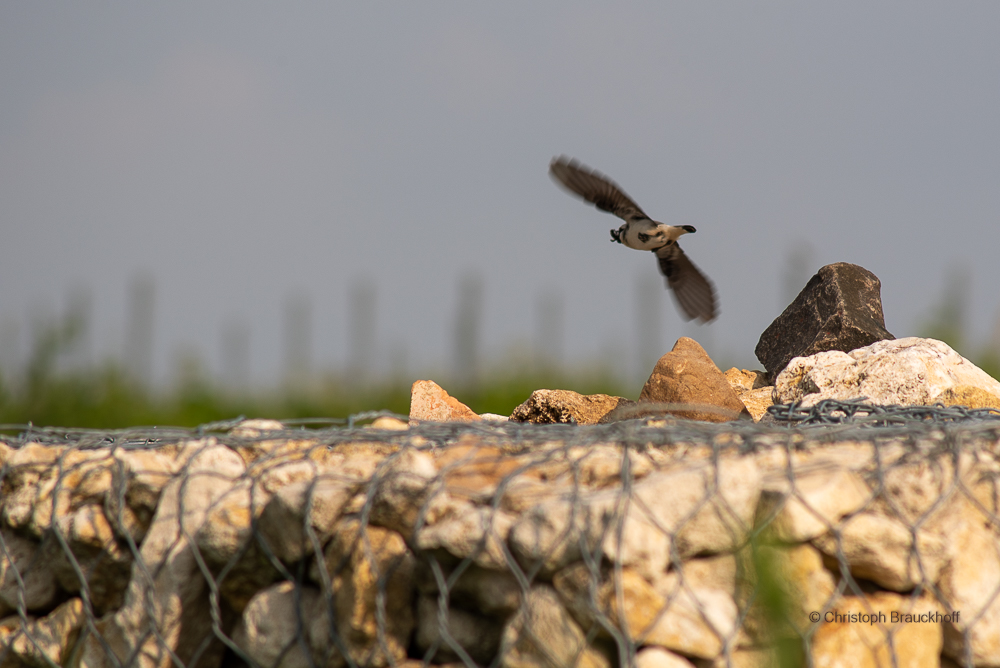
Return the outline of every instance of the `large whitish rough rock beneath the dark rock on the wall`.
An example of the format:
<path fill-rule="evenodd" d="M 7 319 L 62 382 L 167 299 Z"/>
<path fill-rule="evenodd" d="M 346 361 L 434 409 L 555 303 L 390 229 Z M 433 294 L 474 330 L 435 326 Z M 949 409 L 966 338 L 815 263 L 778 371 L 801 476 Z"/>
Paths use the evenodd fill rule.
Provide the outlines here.
<path fill-rule="evenodd" d="M 916 337 L 796 358 L 775 385 L 780 402 L 805 406 L 858 397 L 879 405 L 926 406 L 962 398 L 986 404 L 984 394 L 1000 402 L 1000 381 L 947 344 Z"/>

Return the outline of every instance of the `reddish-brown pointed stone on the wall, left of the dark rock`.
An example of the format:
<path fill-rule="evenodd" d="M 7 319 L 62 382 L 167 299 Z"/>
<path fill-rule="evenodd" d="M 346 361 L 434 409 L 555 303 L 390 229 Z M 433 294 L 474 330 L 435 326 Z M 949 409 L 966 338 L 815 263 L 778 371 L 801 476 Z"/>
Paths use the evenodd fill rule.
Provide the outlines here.
<path fill-rule="evenodd" d="M 678 339 L 673 349 L 656 363 L 642 387 L 639 403 L 684 404 L 663 406 L 663 412 L 704 422 L 750 417 L 705 349 L 686 336 Z"/>

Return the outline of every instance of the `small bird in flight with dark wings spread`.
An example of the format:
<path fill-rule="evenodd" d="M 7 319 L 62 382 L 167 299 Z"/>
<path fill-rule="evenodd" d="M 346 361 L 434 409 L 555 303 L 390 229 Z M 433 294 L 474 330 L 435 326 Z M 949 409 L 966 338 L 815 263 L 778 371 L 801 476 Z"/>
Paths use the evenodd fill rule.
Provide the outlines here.
<path fill-rule="evenodd" d="M 617 183 L 577 160 L 553 158 L 549 174 L 601 211 L 625 221 L 617 230 L 611 230 L 612 242 L 656 253 L 660 272 L 667 278 L 685 320 L 706 323 L 715 319 L 715 287 L 677 245 L 678 237 L 695 231 L 693 225 L 665 225 L 652 220 Z"/>

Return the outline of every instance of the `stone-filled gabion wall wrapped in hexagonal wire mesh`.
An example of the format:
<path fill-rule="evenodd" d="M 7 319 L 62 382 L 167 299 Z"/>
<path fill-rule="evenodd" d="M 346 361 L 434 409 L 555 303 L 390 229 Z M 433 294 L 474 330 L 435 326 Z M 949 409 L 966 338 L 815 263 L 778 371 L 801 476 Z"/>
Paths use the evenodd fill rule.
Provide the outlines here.
<path fill-rule="evenodd" d="M 1000 413 L 7 426 L 0 665 L 1000 664 Z"/>

